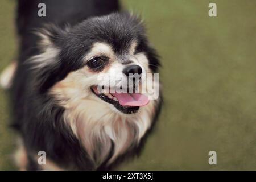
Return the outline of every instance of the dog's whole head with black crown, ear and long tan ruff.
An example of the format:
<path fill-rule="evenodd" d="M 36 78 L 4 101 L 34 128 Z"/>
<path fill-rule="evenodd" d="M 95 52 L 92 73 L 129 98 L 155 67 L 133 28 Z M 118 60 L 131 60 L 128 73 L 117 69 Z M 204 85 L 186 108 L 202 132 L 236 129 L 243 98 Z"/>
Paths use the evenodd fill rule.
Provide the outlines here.
<path fill-rule="evenodd" d="M 128 14 L 111 14 L 67 30 L 51 28 L 40 36 L 43 53 L 32 57 L 36 89 L 65 109 L 64 121 L 92 160 L 102 163 L 112 142 L 112 160 L 137 144 L 159 103 L 141 93 L 147 87 L 143 76 L 159 66 L 141 22 Z M 131 74 L 139 76 L 137 84 L 127 84 Z M 159 89 L 158 83 L 155 87 Z"/>

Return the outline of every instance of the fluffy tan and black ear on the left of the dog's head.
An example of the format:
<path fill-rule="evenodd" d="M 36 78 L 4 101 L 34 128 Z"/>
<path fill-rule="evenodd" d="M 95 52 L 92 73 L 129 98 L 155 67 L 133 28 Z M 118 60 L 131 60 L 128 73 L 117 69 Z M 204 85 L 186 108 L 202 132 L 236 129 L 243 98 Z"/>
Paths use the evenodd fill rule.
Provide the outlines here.
<path fill-rule="evenodd" d="M 39 92 L 46 91 L 53 83 L 59 79 L 60 67 L 60 45 L 69 28 L 60 28 L 47 25 L 46 28 L 37 30 L 36 35 L 40 36 L 38 42 L 39 54 L 27 60 L 34 75 L 34 85 Z"/>

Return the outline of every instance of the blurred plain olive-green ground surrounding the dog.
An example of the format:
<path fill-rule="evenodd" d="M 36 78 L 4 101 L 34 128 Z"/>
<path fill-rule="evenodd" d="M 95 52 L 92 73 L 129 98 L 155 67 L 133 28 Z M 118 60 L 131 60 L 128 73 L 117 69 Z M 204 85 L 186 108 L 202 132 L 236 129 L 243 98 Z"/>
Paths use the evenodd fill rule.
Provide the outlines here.
<path fill-rule="evenodd" d="M 210 2 L 217 17 L 208 16 Z M 122 1 L 140 14 L 162 57 L 164 107 L 139 158 L 117 169 L 256 169 L 256 1 Z M 0 2 L 0 71 L 17 55 L 15 1 Z M 7 93 L 0 90 L 0 169 L 11 162 Z M 208 152 L 217 152 L 209 165 Z"/>

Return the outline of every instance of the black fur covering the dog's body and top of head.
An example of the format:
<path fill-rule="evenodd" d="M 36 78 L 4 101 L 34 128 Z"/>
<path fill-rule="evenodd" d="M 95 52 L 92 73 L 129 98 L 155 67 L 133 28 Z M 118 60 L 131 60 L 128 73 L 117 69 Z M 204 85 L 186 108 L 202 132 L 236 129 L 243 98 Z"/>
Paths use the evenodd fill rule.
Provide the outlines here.
<path fill-rule="evenodd" d="M 47 6 L 47 16 L 38 17 L 38 3 Z M 71 3 L 72 2 L 72 3 Z M 150 68 L 156 72 L 159 67 L 154 49 L 148 46 L 144 28 L 137 18 L 126 13 L 114 13 L 101 18 L 90 18 L 119 11 L 117 1 L 101 0 L 20 0 L 18 5 L 17 28 L 19 35 L 19 59 L 13 88 L 11 89 L 14 126 L 22 135 L 28 157 L 28 169 L 40 169 L 33 162 L 33 155 L 43 150 L 47 158 L 67 169 L 96 169 L 93 162 L 73 135 L 64 125 L 64 109 L 53 102 L 47 91 L 56 82 L 63 80 L 71 71 L 84 66 L 82 56 L 94 42 L 112 45 L 115 53 L 122 56 L 132 40 L 139 41 L 137 52 L 145 52 L 150 60 Z M 61 50 L 59 60 L 43 69 L 31 71 L 24 63 L 31 56 L 40 53 L 35 28 L 43 28 L 44 23 L 56 26 L 48 28 L 51 41 Z M 70 30 L 64 26 L 69 24 Z M 123 58 L 125 59 L 125 58 Z M 125 60 L 124 60 L 125 61 Z M 160 108 L 160 107 L 159 107 Z M 156 114 L 158 115 L 158 113 Z M 111 156 L 111 154 L 110 154 Z M 106 169 L 105 163 L 98 169 Z"/>

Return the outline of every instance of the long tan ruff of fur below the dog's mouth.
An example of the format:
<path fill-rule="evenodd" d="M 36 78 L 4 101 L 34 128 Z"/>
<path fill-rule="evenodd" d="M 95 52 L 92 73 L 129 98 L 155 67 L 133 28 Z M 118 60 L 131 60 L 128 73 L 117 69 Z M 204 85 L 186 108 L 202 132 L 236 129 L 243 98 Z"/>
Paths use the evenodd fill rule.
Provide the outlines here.
<path fill-rule="evenodd" d="M 80 84 L 76 85 L 76 80 L 69 82 L 69 78 L 68 76 L 53 86 L 51 94 L 65 107 L 65 122 L 82 141 L 91 158 L 97 156 L 96 164 L 103 162 L 109 154 L 111 140 L 115 144 L 115 151 L 110 162 L 139 142 L 151 125 L 156 100 L 141 107 L 136 114 L 123 114 L 113 105 L 94 96 L 90 90 L 83 90 L 84 94 L 77 94 Z M 101 150 L 98 150 L 99 148 Z M 98 151 L 101 153 L 98 154 Z"/>

